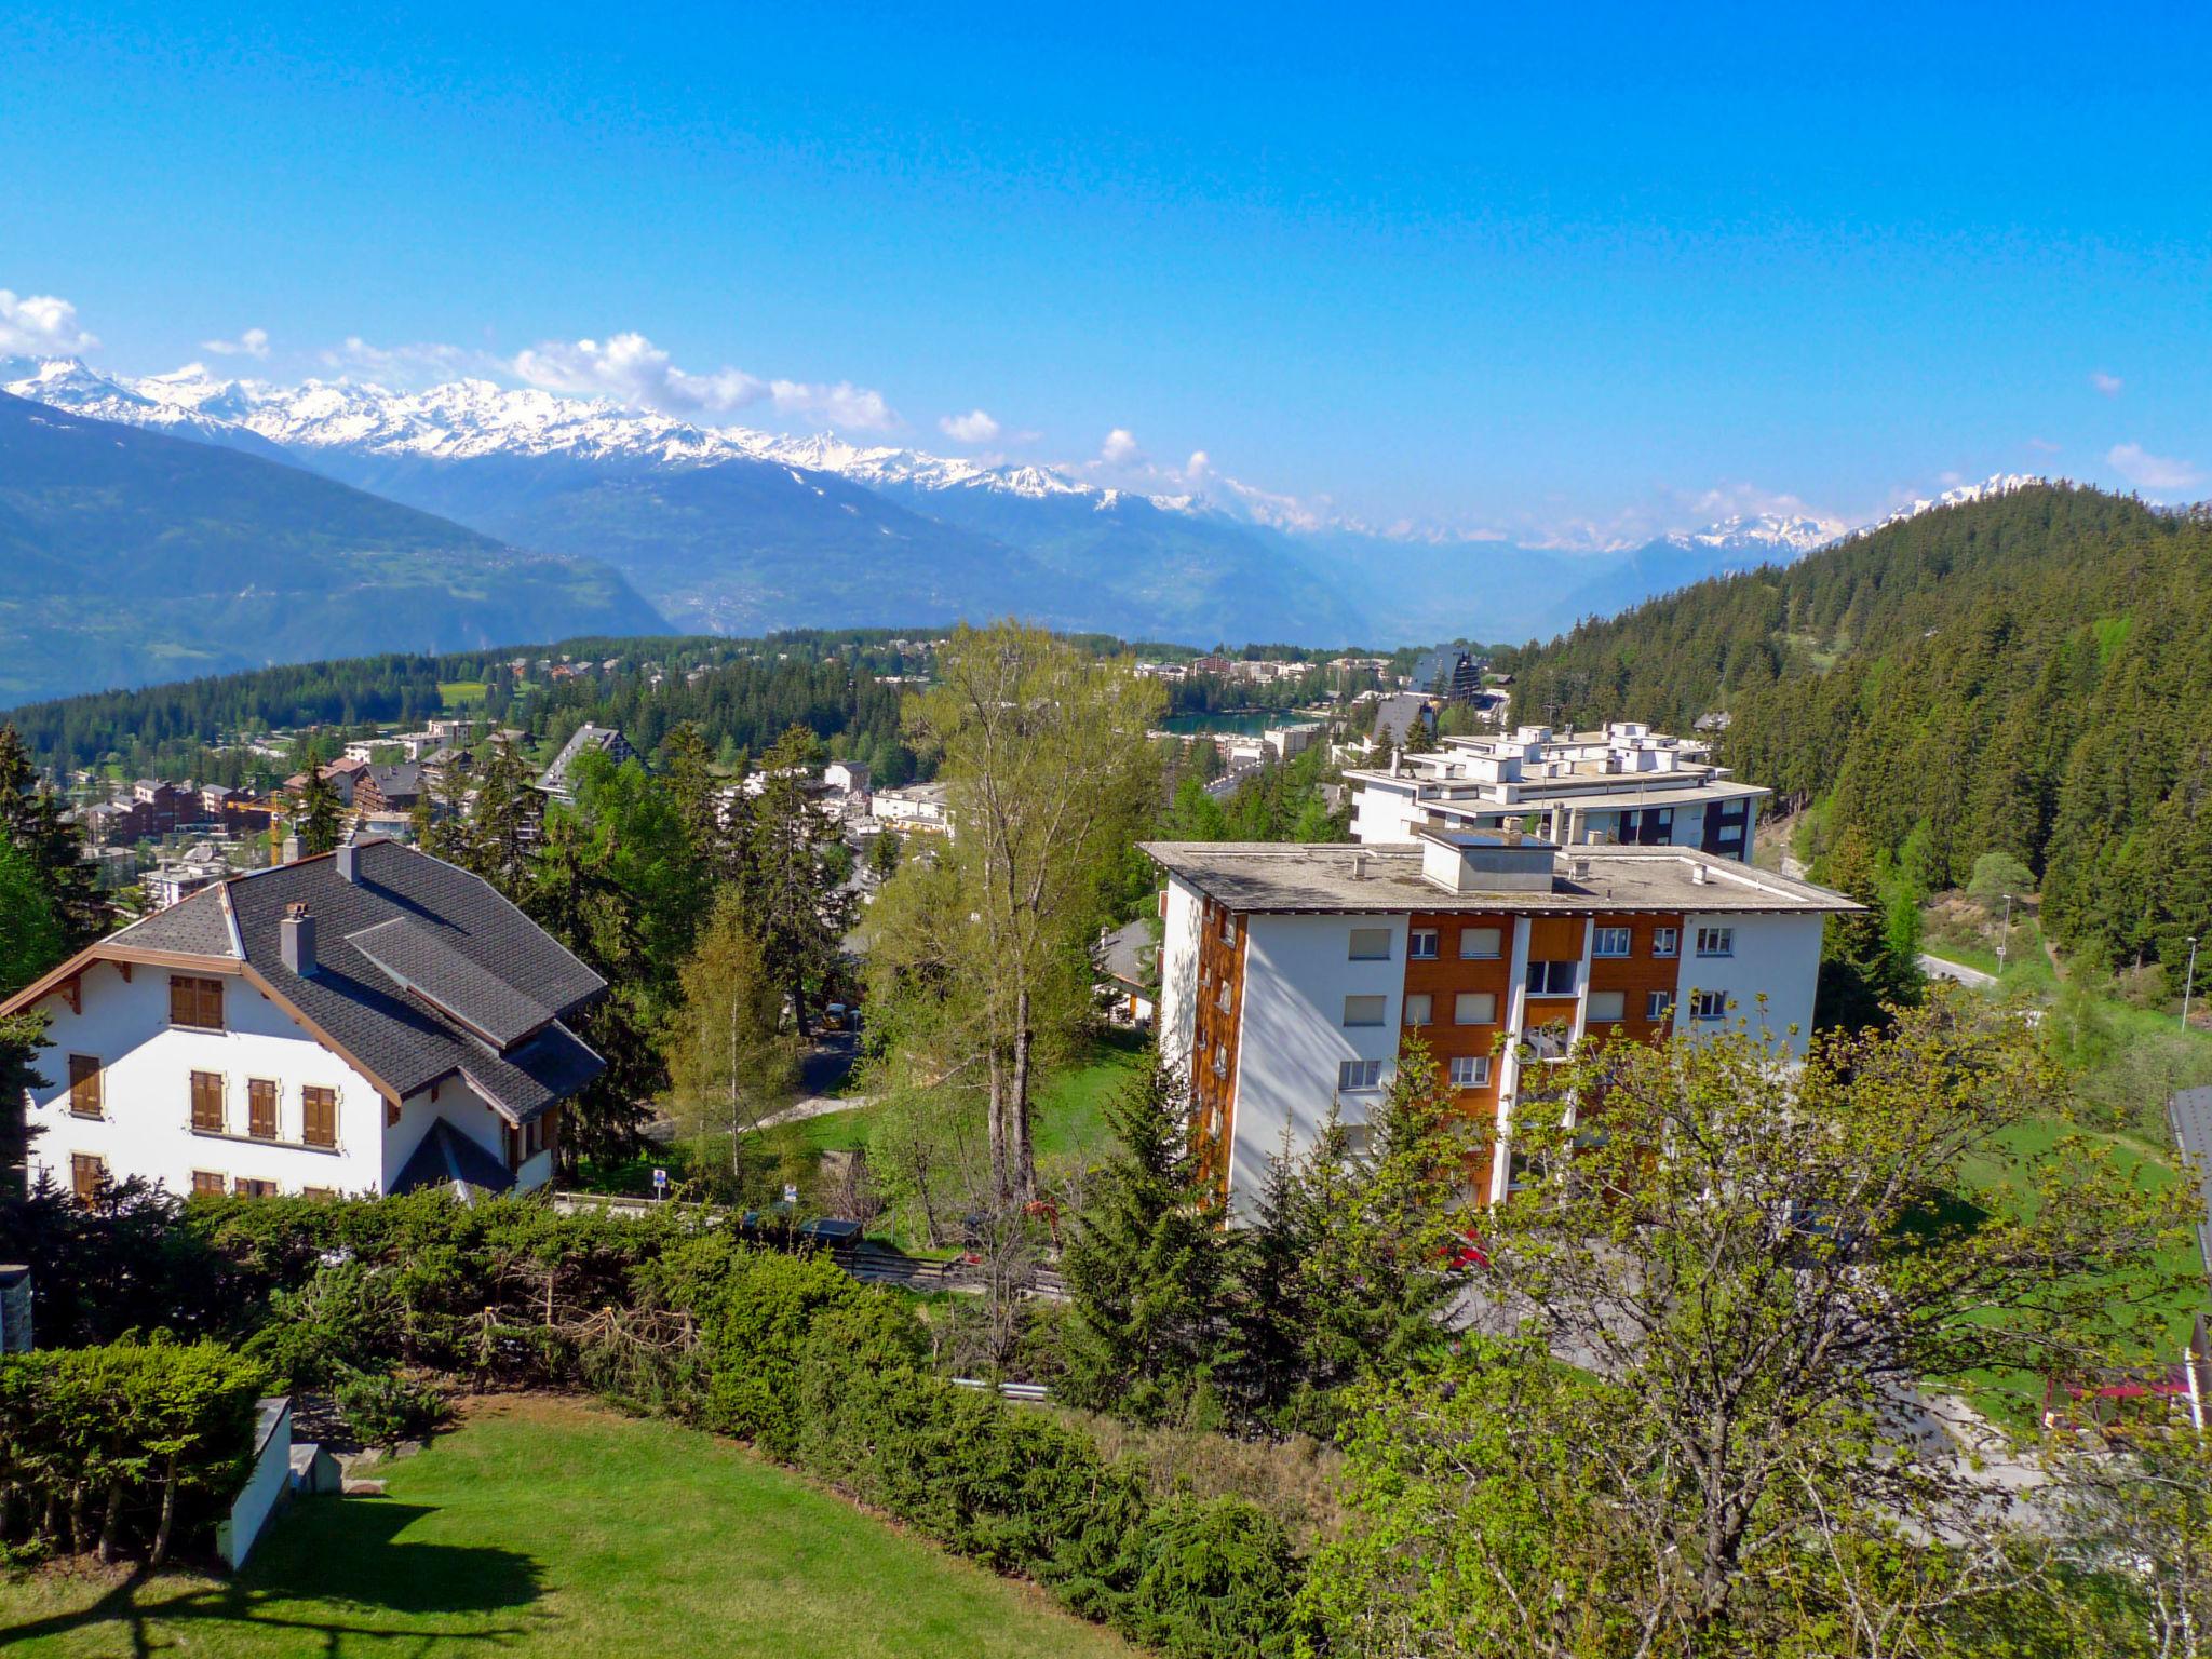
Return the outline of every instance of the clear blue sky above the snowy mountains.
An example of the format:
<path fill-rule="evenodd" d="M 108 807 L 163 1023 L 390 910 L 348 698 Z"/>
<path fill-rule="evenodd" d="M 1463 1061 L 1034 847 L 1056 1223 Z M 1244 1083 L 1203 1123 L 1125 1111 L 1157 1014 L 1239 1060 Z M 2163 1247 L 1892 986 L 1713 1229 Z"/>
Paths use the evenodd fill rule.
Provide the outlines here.
<path fill-rule="evenodd" d="M 0 343 L 1526 538 L 2212 495 L 2201 9 L 321 11 L 11 15 Z"/>

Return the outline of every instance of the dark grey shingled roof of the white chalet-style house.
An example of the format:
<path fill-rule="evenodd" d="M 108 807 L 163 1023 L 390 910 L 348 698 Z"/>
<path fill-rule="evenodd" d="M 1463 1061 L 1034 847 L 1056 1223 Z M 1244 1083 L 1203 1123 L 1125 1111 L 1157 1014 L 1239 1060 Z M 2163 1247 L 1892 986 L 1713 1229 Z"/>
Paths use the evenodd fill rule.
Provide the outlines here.
<path fill-rule="evenodd" d="M 323 856 L 239 876 L 223 887 L 246 960 L 334 1044 L 400 1095 L 462 1073 L 518 1124 L 599 1075 L 604 1062 L 557 1024 L 606 989 L 597 973 L 465 869 L 394 841 L 363 841 L 354 856 L 358 880 L 352 883 L 338 876 L 334 856 Z M 283 964 L 279 947 L 285 907 L 294 902 L 314 916 L 316 971 L 307 978 Z M 484 1033 L 493 1042 L 526 1037 L 502 1053 L 358 949 L 356 936 L 387 922 L 414 929 L 418 951 L 420 940 L 431 940 L 449 953 L 442 958 L 447 973 L 478 975 L 487 1004 L 493 1000 L 489 987 L 500 987 L 502 1004 L 509 998 L 535 1004 L 555 1024 L 526 1037 L 495 1022 L 498 1031 Z M 396 931 L 380 938 L 392 940 Z"/>

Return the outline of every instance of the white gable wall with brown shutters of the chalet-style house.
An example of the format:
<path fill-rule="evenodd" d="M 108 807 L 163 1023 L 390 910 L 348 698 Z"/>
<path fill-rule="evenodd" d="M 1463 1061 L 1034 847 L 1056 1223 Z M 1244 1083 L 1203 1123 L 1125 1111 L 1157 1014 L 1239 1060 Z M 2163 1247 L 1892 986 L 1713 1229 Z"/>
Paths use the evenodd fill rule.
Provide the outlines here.
<path fill-rule="evenodd" d="M 44 1170 L 69 1186 L 69 1159 L 91 1152 L 108 1161 L 117 1181 L 133 1175 L 164 1181 L 170 1192 L 192 1190 L 192 1170 L 217 1170 L 228 1181 L 274 1181 L 279 1192 L 303 1186 L 338 1192 L 383 1190 L 383 1113 L 376 1088 L 338 1055 L 323 1048 L 290 1013 L 241 975 L 223 982 L 223 1031 L 184 1031 L 168 1024 L 168 969 L 137 964 L 124 982 L 115 962 L 84 969 L 84 1013 L 62 995 L 40 1006 L 53 1015 L 38 1071 L 49 1082 L 31 1091 L 31 1179 Z M 102 1062 L 102 1119 L 69 1113 L 69 1055 Z M 190 1073 L 223 1077 L 226 1135 L 192 1130 Z M 276 1084 L 279 1141 L 246 1139 L 246 1084 Z M 301 1088 L 338 1095 L 338 1148 L 299 1144 Z"/>

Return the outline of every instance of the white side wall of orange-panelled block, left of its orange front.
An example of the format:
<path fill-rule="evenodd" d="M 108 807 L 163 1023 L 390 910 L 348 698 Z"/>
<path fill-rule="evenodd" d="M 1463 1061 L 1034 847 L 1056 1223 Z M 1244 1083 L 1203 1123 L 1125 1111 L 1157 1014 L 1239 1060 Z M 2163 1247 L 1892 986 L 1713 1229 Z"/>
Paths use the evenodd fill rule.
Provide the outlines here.
<path fill-rule="evenodd" d="M 1352 929 L 1387 927 L 1389 960 L 1354 962 Z M 1250 1214 L 1267 1159 L 1312 1146 L 1336 1102 L 1345 1060 L 1380 1060 L 1383 1086 L 1405 1018 L 1405 916 L 1252 916 L 1245 936 L 1243 1022 L 1237 1033 L 1237 1124 L 1230 1141 L 1230 1208 Z M 1380 995 L 1383 1024 L 1345 1029 L 1347 995 Z M 1340 1117 L 1367 1121 L 1374 1095 L 1345 1095 Z"/>

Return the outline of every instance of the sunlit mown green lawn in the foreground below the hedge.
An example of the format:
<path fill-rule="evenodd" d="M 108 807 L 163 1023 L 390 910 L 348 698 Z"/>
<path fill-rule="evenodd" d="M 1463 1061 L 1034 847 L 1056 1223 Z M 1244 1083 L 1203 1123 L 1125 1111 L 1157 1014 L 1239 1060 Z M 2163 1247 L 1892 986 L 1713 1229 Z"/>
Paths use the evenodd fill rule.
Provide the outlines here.
<path fill-rule="evenodd" d="M 942 1555 L 692 1429 L 502 1400 L 314 1498 L 237 1579 L 0 1582 L 20 1655 L 1128 1655 L 1042 1590 Z"/>

